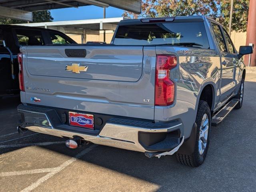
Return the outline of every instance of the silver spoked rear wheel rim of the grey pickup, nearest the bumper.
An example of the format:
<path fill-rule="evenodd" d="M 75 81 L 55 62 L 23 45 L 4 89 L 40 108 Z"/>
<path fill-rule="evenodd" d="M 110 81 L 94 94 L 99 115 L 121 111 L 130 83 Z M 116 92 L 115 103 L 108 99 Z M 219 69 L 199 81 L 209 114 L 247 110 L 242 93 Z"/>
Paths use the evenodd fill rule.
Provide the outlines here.
<path fill-rule="evenodd" d="M 206 149 L 207 138 L 208 138 L 208 128 L 209 128 L 209 119 L 207 114 L 205 113 L 202 118 L 200 130 L 199 130 L 198 150 L 200 155 L 202 155 L 204 153 L 204 150 Z"/>

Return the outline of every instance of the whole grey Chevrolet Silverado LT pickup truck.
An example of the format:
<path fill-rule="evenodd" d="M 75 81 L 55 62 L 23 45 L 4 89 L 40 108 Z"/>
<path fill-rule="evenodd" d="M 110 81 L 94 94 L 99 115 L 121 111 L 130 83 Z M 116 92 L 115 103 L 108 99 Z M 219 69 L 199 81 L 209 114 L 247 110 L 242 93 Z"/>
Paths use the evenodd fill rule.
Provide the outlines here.
<path fill-rule="evenodd" d="M 22 46 L 18 131 L 172 155 L 199 166 L 210 128 L 242 107 L 245 65 L 204 16 L 123 20 L 111 44 Z"/>

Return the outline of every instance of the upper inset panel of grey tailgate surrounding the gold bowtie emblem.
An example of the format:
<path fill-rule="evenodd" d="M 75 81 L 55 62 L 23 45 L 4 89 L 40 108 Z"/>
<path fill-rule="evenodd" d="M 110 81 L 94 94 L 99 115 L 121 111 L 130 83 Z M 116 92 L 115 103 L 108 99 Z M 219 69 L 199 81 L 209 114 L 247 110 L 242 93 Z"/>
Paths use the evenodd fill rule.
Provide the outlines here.
<path fill-rule="evenodd" d="M 66 49 L 76 51 L 77 47 Z M 48 77 L 69 77 L 76 79 L 94 79 L 110 81 L 135 82 L 142 75 L 142 46 L 134 49 L 107 47 L 86 47 L 84 57 L 67 57 L 65 48 L 34 48 L 28 49 L 27 69 L 31 75 Z M 36 65 L 35 65 L 36 63 Z M 66 65 L 80 64 L 88 66 L 85 73 L 66 71 Z"/>

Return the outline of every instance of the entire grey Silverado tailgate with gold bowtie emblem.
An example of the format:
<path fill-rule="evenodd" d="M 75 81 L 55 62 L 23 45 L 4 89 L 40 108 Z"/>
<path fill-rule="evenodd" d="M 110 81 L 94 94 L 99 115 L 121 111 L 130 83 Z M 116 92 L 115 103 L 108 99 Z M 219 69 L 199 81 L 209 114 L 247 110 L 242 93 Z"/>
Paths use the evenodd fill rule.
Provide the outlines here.
<path fill-rule="evenodd" d="M 68 57 L 65 49 L 84 49 L 86 56 Z M 154 47 L 28 46 L 21 50 L 26 57 L 26 103 L 154 119 Z M 34 97 L 40 102 L 34 103 Z"/>

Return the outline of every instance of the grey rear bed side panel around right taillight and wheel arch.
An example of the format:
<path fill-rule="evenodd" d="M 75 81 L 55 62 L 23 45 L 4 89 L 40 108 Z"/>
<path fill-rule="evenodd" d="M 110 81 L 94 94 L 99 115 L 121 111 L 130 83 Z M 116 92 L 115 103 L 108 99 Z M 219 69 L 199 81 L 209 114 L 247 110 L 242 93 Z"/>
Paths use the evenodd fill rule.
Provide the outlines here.
<path fill-rule="evenodd" d="M 176 84 L 176 99 L 168 107 L 155 107 L 155 121 L 180 119 L 184 135 L 188 138 L 196 120 L 200 93 L 210 84 L 214 89 L 214 101 L 218 100 L 220 87 L 220 57 L 215 50 L 157 46 L 156 54 L 177 56 L 178 65 L 170 77 Z M 213 102 L 216 103 L 216 102 Z M 214 109 L 214 105 L 211 106 Z"/>

